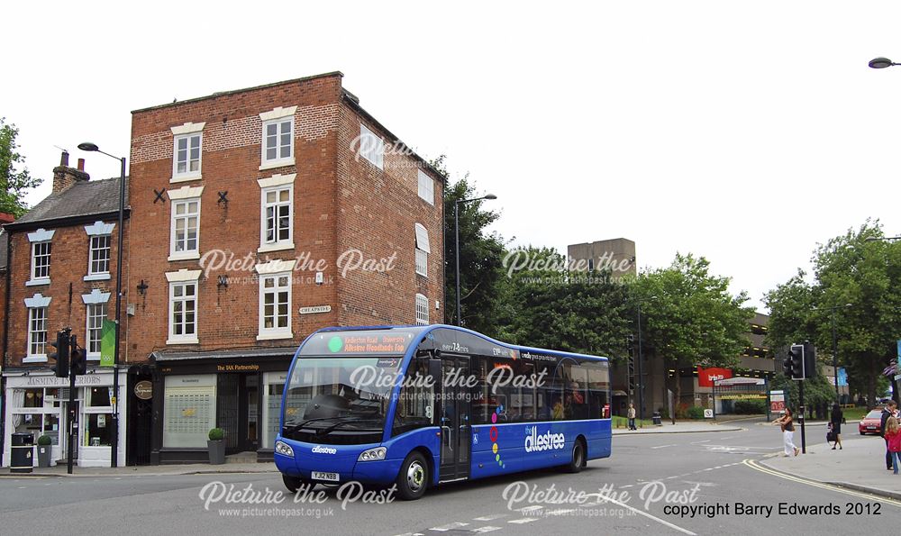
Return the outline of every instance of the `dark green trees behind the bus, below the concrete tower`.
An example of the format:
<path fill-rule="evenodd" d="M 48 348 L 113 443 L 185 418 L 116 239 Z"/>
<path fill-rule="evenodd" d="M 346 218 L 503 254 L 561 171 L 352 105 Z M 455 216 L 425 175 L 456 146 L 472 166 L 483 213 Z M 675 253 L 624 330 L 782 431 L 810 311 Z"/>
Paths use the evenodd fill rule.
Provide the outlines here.
<path fill-rule="evenodd" d="M 501 338 L 515 344 L 611 359 L 626 355 L 628 290 L 610 271 L 569 272 L 556 250 L 508 251 L 498 313 Z"/>

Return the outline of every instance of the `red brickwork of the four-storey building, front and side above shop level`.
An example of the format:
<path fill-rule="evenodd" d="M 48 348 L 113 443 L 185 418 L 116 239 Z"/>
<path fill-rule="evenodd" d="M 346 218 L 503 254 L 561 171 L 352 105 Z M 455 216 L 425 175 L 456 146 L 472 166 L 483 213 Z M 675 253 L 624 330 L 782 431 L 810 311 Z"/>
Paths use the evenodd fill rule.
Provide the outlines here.
<path fill-rule="evenodd" d="M 259 170 L 259 114 L 277 106 L 297 106 L 295 162 L 285 168 Z M 216 95 L 140 110 L 132 114 L 130 199 L 132 264 L 127 287 L 141 280 L 146 295 L 132 295 L 136 315 L 129 332 L 129 353 L 143 359 L 154 350 L 212 350 L 296 347 L 321 327 L 357 323 L 414 323 L 417 288 L 441 299 L 441 206 L 432 207 L 417 195 L 416 169 L 366 173 L 365 162 L 352 160 L 349 130 L 359 120 L 341 104 L 341 76 L 328 75 Z M 205 122 L 202 178 L 170 184 L 171 127 Z M 356 123 L 355 123 L 356 122 Z M 341 126 L 341 132 L 339 132 Z M 372 128 L 370 126 L 370 128 Z M 344 132 L 348 131 L 348 132 Z M 386 164 L 393 162 L 386 158 Z M 400 157 L 409 159 L 410 157 Z M 341 162 L 341 164 L 339 164 Z M 294 250 L 258 253 L 260 228 L 259 178 L 296 173 L 294 182 Z M 154 190 L 204 186 L 201 196 L 200 254 L 223 250 L 245 259 L 250 269 L 213 269 L 198 284 L 199 344 L 167 345 L 168 281 L 166 272 L 200 269 L 198 260 L 168 261 L 170 205 L 154 203 Z M 436 197 L 441 199 L 436 184 Z M 229 203 L 217 204 L 217 192 L 228 191 Z M 429 217 L 432 217 L 432 221 Z M 430 277 L 418 283 L 414 273 L 414 221 L 430 229 Z M 387 274 L 355 273 L 341 277 L 341 253 L 350 248 L 367 257 L 398 260 Z M 268 259 L 322 259 L 323 285 L 314 284 L 313 270 L 298 270 L 292 286 L 293 339 L 257 341 L 259 283 L 253 266 Z M 209 259 L 207 257 L 207 259 Z M 229 278 L 218 286 L 218 276 Z M 331 305 L 331 313 L 299 314 L 298 309 Z M 442 304 L 443 307 L 443 304 Z"/>

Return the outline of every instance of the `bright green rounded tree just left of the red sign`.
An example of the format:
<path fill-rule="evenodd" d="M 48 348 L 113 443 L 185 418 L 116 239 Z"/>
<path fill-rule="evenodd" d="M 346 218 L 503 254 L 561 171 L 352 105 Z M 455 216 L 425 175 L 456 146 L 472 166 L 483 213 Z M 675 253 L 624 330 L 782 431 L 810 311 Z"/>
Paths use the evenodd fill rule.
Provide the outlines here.
<path fill-rule="evenodd" d="M 674 393 L 681 398 L 680 368 L 734 367 L 748 347 L 748 296 L 729 294 L 729 278 L 709 272 L 704 257 L 676 254 L 668 268 L 642 272 L 633 279 L 633 303 L 642 302 L 642 344 L 677 371 Z"/>

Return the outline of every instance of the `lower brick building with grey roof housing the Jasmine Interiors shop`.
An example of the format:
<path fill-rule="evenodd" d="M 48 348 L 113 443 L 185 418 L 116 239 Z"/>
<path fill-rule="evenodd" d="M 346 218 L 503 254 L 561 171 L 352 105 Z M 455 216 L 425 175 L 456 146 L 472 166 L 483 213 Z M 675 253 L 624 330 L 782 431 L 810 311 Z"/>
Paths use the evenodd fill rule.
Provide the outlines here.
<path fill-rule="evenodd" d="M 84 160 L 71 168 L 64 151 L 53 169 L 52 193 L 5 225 L 5 464 L 14 432 L 31 432 L 35 440 L 48 435 L 53 459 L 68 455 L 68 378 L 53 375 L 47 354 L 57 332 L 69 327 L 88 361 L 76 383 L 75 458 L 80 466 L 110 465 L 113 373 L 99 368 L 99 359 L 103 320 L 114 318 L 118 211 L 119 178 L 90 180 Z M 127 266 L 127 257 L 123 262 Z M 120 376 L 124 386 L 124 372 Z M 119 404 L 120 415 L 124 411 Z M 120 464 L 124 443 L 120 433 Z"/>

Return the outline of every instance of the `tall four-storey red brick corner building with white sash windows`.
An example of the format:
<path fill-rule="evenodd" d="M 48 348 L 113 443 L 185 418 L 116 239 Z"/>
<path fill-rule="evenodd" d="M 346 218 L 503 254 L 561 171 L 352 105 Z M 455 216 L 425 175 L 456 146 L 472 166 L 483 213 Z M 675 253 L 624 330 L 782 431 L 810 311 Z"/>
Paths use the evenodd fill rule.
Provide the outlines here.
<path fill-rule="evenodd" d="M 309 333 L 441 318 L 441 176 L 341 73 L 136 110 L 130 175 L 126 354 L 154 370 L 152 463 L 206 459 L 213 427 L 270 459 Z"/>

